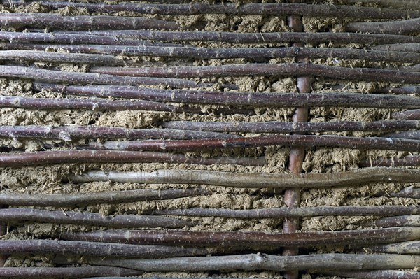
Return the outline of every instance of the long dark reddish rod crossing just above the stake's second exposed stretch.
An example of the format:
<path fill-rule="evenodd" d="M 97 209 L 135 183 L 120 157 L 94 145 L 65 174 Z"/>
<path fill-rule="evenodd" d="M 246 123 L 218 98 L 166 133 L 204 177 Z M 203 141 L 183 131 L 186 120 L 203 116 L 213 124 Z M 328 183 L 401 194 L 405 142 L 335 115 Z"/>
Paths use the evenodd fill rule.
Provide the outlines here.
<path fill-rule="evenodd" d="M 102 71 L 103 70 L 103 71 Z M 323 76 L 344 80 L 386 81 L 416 84 L 420 73 L 372 68 L 346 68 L 318 64 L 230 64 L 223 66 L 169 66 L 102 69 L 101 73 L 123 76 L 211 78 L 225 76 Z M 94 70 L 99 73 L 99 69 Z"/>

